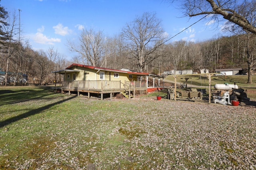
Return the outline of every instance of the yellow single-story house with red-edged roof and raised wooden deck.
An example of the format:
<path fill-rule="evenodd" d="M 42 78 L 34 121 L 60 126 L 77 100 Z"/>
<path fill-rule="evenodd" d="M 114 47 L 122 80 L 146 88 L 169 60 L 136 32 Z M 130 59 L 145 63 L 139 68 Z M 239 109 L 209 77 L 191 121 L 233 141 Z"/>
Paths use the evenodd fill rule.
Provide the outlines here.
<path fill-rule="evenodd" d="M 90 93 L 103 94 L 122 93 L 131 98 L 138 90 L 147 90 L 148 73 L 132 72 L 130 70 L 115 70 L 110 68 L 88 66 L 82 64 L 71 64 L 64 70 L 52 73 L 64 74 L 64 81 L 60 89 L 62 92 L 86 92 L 88 98 Z M 141 79 L 142 77 L 142 79 Z M 57 87 L 55 86 L 57 89 Z"/>

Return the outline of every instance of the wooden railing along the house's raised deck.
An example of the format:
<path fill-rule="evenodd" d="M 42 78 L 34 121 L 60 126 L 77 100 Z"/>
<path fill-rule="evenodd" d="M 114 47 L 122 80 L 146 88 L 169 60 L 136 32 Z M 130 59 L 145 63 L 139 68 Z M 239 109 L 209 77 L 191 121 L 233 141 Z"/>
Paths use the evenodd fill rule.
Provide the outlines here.
<path fill-rule="evenodd" d="M 122 90 L 129 88 L 146 88 L 146 83 L 141 81 L 109 81 L 109 80 L 85 80 L 63 82 L 62 88 L 80 90 Z"/>

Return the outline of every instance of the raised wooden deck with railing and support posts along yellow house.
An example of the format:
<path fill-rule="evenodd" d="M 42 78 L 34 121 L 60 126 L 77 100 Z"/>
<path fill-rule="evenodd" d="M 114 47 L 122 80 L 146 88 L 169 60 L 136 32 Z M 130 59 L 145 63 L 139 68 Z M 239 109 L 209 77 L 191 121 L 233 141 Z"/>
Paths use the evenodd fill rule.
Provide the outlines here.
<path fill-rule="evenodd" d="M 62 83 L 62 86 L 55 87 L 55 89 L 61 89 L 63 92 L 87 92 L 88 98 L 90 98 L 90 93 L 101 94 L 101 99 L 103 100 L 103 94 L 112 94 L 114 93 L 124 93 L 128 92 L 128 98 L 131 97 L 131 94 L 135 96 L 136 90 L 147 90 L 146 82 L 142 81 L 108 81 L 108 80 L 86 80 L 86 81 L 66 81 Z M 126 96 L 124 94 L 124 96 Z M 126 96 L 127 97 L 127 96 Z"/>

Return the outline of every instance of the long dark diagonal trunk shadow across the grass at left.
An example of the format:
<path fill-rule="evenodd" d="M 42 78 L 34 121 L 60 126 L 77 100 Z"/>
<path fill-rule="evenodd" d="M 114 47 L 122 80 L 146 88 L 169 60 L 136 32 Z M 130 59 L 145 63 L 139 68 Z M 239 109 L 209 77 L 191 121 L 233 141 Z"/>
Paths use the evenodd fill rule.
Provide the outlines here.
<path fill-rule="evenodd" d="M 13 123 L 13 122 L 15 122 L 15 121 L 18 121 L 18 120 L 20 120 L 20 119 L 23 119 L 23 118 L 25 118 L 25 117 L 29 117 L 29 116 L 38 114 L 38 113 L 40 113 L 40 112 L 42 112 L 42 111 L 44 111 L 44 110 L 46 110 L 46 109 L 49 109 L 50 107 L 52 107 L 52 106 L 54 106 L 54 105 L 56 105 L 56 104 L 60 104 L 60 103 L 66 102 L 66 101 L 71 100 L 71 99 L 73 99 L 73 98 L 75 98 L 75 97 L 76 97 L 76 96 L 72 96 L 72 97 L 67 98 L 67 99 L 65 99 L 65 100 L 61 100 L 61 101 L 59 101 L 59 102 L 55 102 L 55 103 L 49 104 L 49 105 L 47 105 L 47 106 L 39 107 L 39 108 L 37 108 L 37 109 L 33 109 L 33 110 L 28 111 L 28 112 L 26 112 L 26 113 L 23 113 L 23 114 L 21 114 L 21 115 L 18 115 L 18 116 L 15 116 L 15 117 L 11 117 L 11 118 L 6 119 L 6 120 L 4 120 L 4 121 L 0 121 L 0 128 L 1 128 L 1 127 L 4 127 L 4 126 L 6 126 L 6 125 L 9 125 L 10 123 Z"/>

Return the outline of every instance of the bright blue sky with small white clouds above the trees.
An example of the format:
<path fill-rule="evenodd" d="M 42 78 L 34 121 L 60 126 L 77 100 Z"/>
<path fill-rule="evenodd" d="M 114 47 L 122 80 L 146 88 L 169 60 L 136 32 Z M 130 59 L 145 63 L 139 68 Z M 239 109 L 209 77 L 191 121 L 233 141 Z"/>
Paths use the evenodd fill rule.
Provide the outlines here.
<path fill-rule="evenodd" d="M 71 60 L 67 40 L 77 42 L 81 30 L 93 28 L 107 36 L 118 35 L 126 23 L 144 12 L 155 12 L 169 37 L 198 21 L 200 17 L 181 18 L 176 1 L 165 0 L 1 0 L 6 11 L 18 14 L 22 39 L 28 40 L 32 49 L 47 51 L 54 47 L 58 53 Z M 171 41 L 204 41 L 222 33 L 212 21 L 199 21 Z"/>

